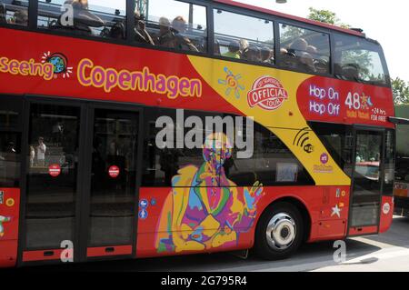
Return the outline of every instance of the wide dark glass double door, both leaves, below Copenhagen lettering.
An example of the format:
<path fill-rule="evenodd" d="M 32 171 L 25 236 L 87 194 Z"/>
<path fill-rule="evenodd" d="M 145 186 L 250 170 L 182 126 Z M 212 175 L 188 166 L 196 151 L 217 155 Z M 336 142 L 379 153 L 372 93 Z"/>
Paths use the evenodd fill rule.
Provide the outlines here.
<path fill-rule="evenodd" d="M 139 114 L 29 101 L 22 262 L 135 253 Z"/>

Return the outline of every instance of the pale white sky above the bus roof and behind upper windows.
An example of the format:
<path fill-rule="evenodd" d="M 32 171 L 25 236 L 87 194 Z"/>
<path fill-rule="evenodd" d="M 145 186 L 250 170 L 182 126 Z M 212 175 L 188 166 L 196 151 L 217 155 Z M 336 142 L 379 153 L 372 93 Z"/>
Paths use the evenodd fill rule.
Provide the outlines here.
<path fill-rule="evenodd" d="M 180 9 L 170 7 L 170 0 L 150 0 L 158 5 L 158 10 L 175 13 Z M 306 17 L 308 8 L 327 9 L 336 13 L 344 24 L 364 29 L 364 33 L 376 39 L 384 47 L 384 54 L 392 77 L 409 81 L 409 27 L 408 4 L 402 0 L 287 0 L 286 4 L 276 4 L 274 0 L 236 0 L 258 5 L 289 15 Z M 105 5 L 125 8 L 125 0 L 89 0 L 90 5 Z M 165 4 L 165 5 L 164 5 Z M 160 7 L 160 8 L 159 8 Z M 156 10 L 152 7 L 152 10 Z M 152 12 L 151 10 L 151 12 Z M 198 17 L 195 17 L 197 19 Z"/>

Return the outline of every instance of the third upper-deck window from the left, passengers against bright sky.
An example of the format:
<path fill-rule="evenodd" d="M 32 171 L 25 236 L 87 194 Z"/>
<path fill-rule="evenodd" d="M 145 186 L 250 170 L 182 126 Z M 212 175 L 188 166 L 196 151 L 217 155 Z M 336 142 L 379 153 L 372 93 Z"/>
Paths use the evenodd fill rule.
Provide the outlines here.
<path fill-rule="evenodd" d="M 136 1 L 136 42 L 184 51 L 207 50 L 205 6 L 175 0 L 152 0 L 147 7 L 140 3 Z"/>

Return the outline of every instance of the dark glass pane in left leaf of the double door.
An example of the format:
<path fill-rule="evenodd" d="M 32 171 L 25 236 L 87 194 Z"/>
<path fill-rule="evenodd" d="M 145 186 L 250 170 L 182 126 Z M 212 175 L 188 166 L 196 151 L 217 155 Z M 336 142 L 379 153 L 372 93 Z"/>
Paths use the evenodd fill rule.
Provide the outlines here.
<path fill-rule="evenodd" d="M 58 248 L 73 240 L 80 109 L 31 105 L 25 245 Z"/>

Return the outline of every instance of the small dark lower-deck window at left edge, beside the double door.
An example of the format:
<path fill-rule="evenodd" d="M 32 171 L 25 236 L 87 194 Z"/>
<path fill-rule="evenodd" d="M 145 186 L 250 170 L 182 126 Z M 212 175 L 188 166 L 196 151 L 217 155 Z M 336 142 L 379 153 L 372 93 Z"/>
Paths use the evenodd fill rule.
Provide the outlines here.
<path fill-rule="evenodd" d="M 18 187 L 20 180 L 20 135 L 0 133 L 0 187 Z"/>

